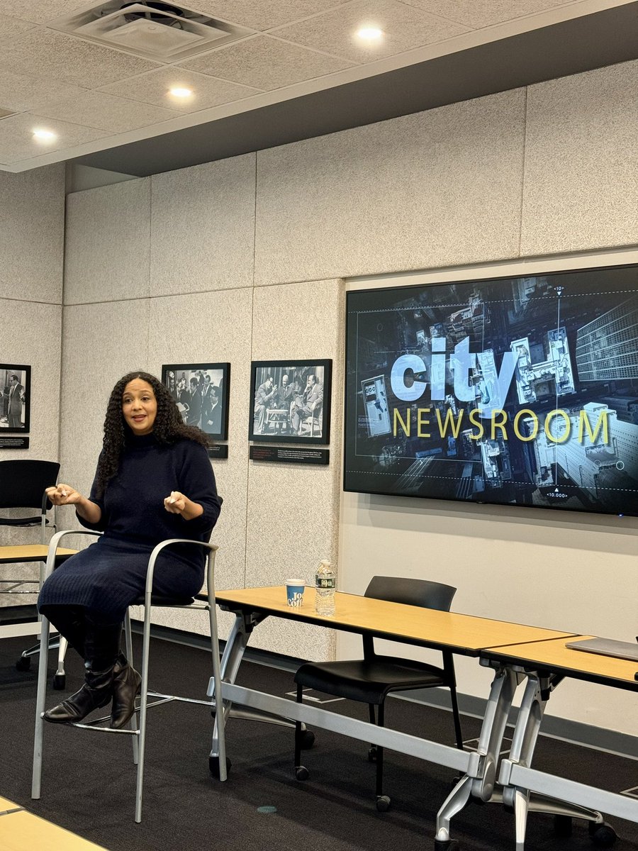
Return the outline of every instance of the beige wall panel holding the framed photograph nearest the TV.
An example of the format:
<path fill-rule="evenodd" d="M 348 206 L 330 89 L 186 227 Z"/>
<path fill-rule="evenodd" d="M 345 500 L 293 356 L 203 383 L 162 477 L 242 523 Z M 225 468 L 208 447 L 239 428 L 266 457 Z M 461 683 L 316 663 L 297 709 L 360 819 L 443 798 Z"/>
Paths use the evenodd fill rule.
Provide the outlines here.
<path fill-rule="evenodd" d="M 291 576 L 314 582 L 322 558 L 338 562 L 341 442 L 341 331 L 339 281 L 256 288 L 253 360 L 329 357 L 333 404 L 328 466 L 249 462 L 246 585 L 278 585 Z M 248 411 L 247 411 L 248 414 Z M 314 604 L 308 590 L 305 605 Z M 255 632 L 259 647 L 304 659 L 333 654 L 333 635 L 276 618 Z"/>

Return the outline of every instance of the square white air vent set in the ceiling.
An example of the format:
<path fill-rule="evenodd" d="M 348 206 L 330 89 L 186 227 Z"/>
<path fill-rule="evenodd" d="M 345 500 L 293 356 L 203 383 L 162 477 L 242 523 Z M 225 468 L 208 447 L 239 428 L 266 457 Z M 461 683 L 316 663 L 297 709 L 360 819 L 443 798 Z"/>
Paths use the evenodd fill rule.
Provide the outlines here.
<path fill-rule="evenodd" d="M 185 6 L 155 0 L 147 3 L 110 0 L 48 26 L 160 62 L 182 60 L 251 33 Z"/>

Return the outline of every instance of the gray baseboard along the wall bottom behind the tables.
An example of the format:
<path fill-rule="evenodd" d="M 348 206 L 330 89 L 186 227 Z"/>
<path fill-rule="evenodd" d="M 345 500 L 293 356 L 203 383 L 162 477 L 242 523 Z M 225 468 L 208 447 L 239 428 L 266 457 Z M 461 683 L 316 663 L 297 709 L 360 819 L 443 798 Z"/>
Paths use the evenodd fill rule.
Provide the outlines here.
<path fill-rule="evenodd" d="M 141 621 L 133 620 L 131 626 L 134 632 L 142 631 Z M 185 644 L 189 647 L 207 650 L 210 647 L 206 636 L 197 635 L 194 632 L 176 630 L 168 626 L 151 625 L 151 635 L 155 638 Z M 225 642 L 223 640 L 220 641 L 222 648 L 224 645 Z M 268 665 L 273 668 L 279 668 L 282 671 L 296 671 L 299 665 L 305 662 L 303 659 L 269 653 L 266 650 L 259 650 L 258 648 L 247 648 L 244 658 L 257 665 Z M 426 706 L 434 706 L 436 709 L 451 711 L 449 695 L 447 689 L 444 688 L 415 690 L 410 697 L 398 694 L 390 696 L 395 700 L 413 700 L 416 703 L 422 703 Z M 482 718 L 485 715 L 486 705 L 487 700 L 483 698 L 475 697 L 471 694 L 459 693 L 459 711 L 462 715 Z M 516 709 L 513 710 L 510 716 L 510 725 L 513 726 L 515 718 Z M 582 745 L 596 751 L 618 754 L 619 757 L 638 760 L 638 736 L 619 733 L 617 730 L 608 730 L 607 728 L 594 727 L 591 724 L 570 721 L 567 718 L 546 715 L 543 718 L 543 727 L 540 735 L 573 742 L 575 745 Z"/>

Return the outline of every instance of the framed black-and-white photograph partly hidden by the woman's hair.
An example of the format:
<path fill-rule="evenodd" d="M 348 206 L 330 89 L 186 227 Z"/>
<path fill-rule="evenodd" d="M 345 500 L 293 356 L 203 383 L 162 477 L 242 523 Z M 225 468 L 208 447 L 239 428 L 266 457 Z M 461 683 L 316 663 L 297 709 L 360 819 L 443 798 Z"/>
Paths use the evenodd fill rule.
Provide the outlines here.
<path fill-rule="evenodd" d="M 187 426 L 197 426 L 215 440 L 228 437 L 230 363 L 168 363 L 162 382 L 168 387 Z"/>

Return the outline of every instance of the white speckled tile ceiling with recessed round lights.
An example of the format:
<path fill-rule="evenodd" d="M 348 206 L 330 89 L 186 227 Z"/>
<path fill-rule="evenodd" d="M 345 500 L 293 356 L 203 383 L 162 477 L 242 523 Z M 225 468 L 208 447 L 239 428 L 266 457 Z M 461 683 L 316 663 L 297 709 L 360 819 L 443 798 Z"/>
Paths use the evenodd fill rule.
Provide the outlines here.
<path fill-rule="evenodd" d="M 556 0 L 194 0 L 185 3 L 253 33 L 182 62 L 162 63 L 90 42 L 51 26 L 61 15 L 90 8 L 78 0 L 3 0 L 0 14 L 0 168 L 37 163 L 51 151 L 100 140 L 100 147 L 132 140 L 134 131 L 178 126 L 185 113 L 263 105 L 267 92 L 299 94 L 295 86 L 373 65 L 428 43 L 453 40 L 499 20 L 578 6 Z M 387 32 L 376 50 L 353 42 L 352 31 L 377 21 Z M 373 69 L 371 68 L 371 73 Z M 197 91 L 191 104 L 168 102 L 170 85 Z M 289 89 L 289 94 L 287 89 Z M 253 99 L 252 102 L 250 99 Z M 243 104 L 242 101 L 248 103 Z M 9 115 L 2 117 L 3 112 Z M 10 114 L 14 113 L 14 114 Z M 204 113 L 202 112 L 202 119 Z M 211 113 L 211 119 L 216 117 Z M 206 114 L 208 119 L 208 113 Z M 182 119 L 183 120 L 183 119 Z M 36 124 L 59 134 L 52 146 L 31 138 Z"/>

